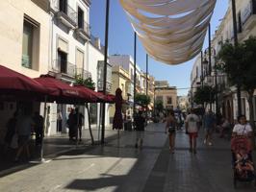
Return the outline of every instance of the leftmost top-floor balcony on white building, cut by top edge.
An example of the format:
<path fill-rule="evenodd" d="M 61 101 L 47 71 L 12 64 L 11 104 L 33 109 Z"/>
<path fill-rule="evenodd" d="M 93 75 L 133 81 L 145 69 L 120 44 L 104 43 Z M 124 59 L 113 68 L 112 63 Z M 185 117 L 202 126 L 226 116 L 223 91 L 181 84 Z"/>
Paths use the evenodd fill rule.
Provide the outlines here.
<path fill-rule="evenodd" d="M 51 10 L 55 13 L 57 19 L 68 29 L 74 29 L 77 26 L 77 12 L 62 0 L 51 0 Z"/>

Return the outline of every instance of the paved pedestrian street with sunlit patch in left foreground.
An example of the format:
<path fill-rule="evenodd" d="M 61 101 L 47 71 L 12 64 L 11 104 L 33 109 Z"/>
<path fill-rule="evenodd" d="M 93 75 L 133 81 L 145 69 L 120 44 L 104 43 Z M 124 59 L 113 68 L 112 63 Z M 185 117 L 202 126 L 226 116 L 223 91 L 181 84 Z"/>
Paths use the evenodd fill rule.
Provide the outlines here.
<path fill-rule="evenodd" d="M 187 135 L 178 131 L 172 155 L 164 131 L 164 124 L 150 124 L 142 149 L 134 147 L 136 132 L 122 132 L 105 146 L 66 152 L 48 163 L 2 177 L 0 191 L 255 191 L 248 183 L 234 189 L 227 139 L 215 134 L 214 145 L 205 146 L 201 130 L 197 154 L 192 155 Z"/>

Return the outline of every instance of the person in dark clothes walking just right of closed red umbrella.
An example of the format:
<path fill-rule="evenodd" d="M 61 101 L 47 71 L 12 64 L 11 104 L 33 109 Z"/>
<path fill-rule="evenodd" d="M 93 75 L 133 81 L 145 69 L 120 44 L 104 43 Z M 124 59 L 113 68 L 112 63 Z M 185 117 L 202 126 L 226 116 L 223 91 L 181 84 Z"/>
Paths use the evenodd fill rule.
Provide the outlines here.
<path fill-rule="evenodd" d="M 135 130 L 136 130 L 136 143 L 135 148 L 138 148 L 139 145 L 142 147 L 143 137 L 144 137 L 144 125 L 145 118 L 142 116 L 142 111 L 140 110 L 138 115 L 135 116 Z"/>

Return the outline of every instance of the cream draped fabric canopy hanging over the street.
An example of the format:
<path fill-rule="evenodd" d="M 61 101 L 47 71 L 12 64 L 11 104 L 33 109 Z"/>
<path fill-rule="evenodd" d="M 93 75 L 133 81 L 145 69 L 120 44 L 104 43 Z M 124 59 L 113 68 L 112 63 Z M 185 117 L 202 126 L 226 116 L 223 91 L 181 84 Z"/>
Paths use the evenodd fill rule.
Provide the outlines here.
<path fill-rule="evenodd" d="M 179 64 L 202 49 L 216 0 L 119 0 L 146 52 Z"/>

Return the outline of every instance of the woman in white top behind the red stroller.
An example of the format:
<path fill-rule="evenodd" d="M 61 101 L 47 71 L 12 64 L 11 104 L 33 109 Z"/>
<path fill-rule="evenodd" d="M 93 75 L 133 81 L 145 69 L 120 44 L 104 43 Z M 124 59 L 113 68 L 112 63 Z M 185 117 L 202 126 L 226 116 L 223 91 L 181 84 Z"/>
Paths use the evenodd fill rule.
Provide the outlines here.
<path fill-rule="evenodd" d="M 252 129 L 251 126 L 247 123 L 245 115 L 241 115 L 238 118 L 239 123 L 236 124 L 233 128 L 232 137 L 234 136 L 247 136 L 251 137 Z"/>

